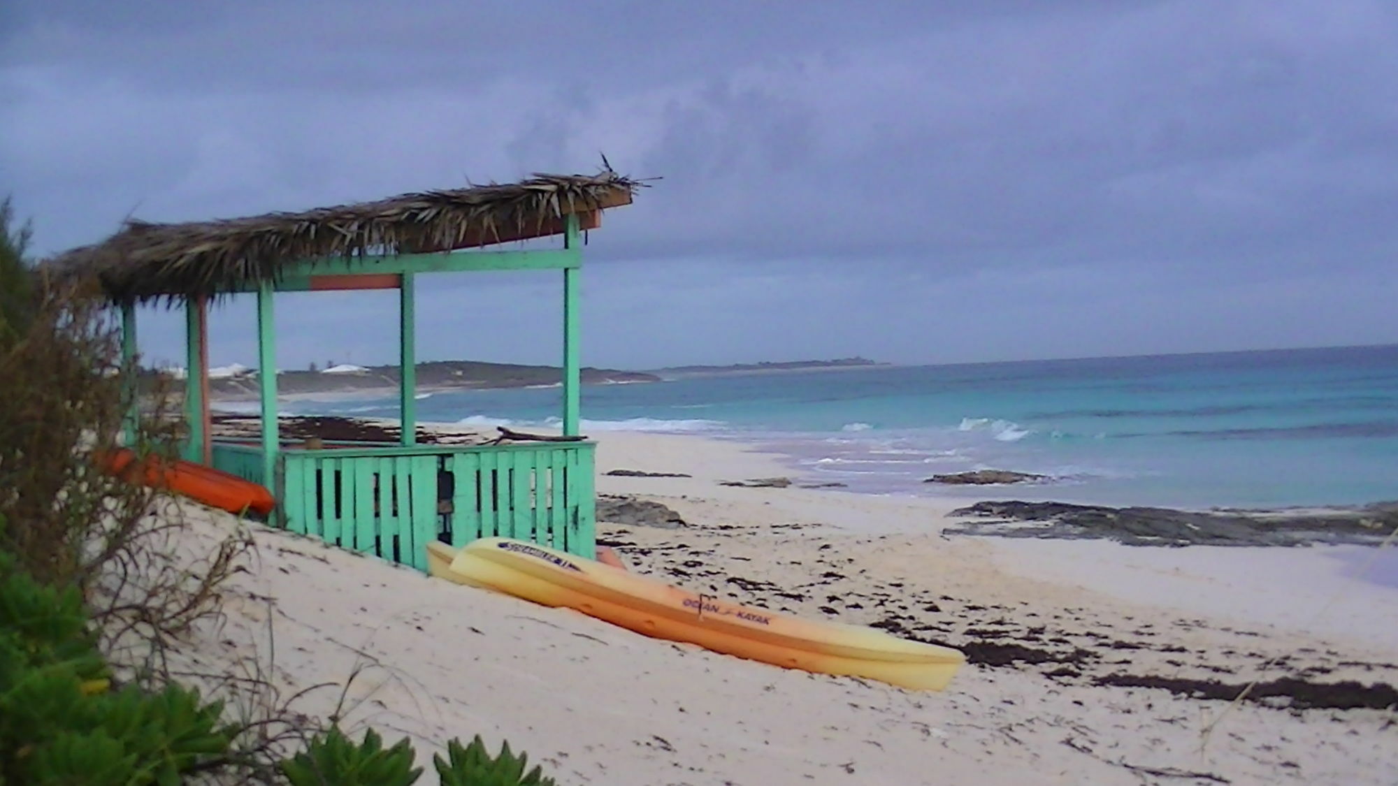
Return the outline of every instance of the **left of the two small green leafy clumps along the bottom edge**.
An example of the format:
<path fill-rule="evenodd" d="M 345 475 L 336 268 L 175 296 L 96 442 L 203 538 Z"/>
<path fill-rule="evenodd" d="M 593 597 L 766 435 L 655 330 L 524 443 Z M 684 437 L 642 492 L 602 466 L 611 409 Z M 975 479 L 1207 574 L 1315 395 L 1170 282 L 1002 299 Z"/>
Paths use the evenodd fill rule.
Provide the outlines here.
<path fill-rule="evenodd" d="M 331 726 L 306 750 L 281 762 L 281 772 L 292 786 L 411 786 L 422 776 L 412 766 L 412 745 L 404 737 L 391 748 L 383 747 L 379 734 L 369 729 L 362 743 L 354 743 Z"/>

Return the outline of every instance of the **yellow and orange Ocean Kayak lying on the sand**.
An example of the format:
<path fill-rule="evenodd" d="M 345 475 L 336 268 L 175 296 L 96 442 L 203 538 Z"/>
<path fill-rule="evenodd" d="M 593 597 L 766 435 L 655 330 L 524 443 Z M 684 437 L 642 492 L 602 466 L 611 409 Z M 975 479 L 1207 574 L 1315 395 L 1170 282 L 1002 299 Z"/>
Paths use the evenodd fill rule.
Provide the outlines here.
<path fill-rule="evenodd" d="M 573 608 L 647 636 L 787 669 L 941 691 L 966 662 L 956 649 L 738 606 L 520 540 L 487 537 L 459 551 L 433 541 L 428 571 L 459 585 Z"/>

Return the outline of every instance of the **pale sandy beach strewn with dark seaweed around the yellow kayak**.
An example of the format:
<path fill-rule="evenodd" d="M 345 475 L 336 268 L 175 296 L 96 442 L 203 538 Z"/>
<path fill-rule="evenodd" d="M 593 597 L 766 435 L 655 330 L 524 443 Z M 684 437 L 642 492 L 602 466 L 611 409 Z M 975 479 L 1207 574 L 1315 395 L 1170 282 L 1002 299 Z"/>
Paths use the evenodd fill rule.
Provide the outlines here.
<path fill-rule="evenodd" d="M 970 663 L 937 694 L 783 670 L 257 524 L 224 625 L 186 655 L 207 669 L 270 655 L 274 639 L 285 694 L 368 667 L 347 726 L 412 737 L 419 764 L 450 737 L 509 740 L 565 785 L 1398 783 L 1394 708 L 1144 687 L 1236 695 L 1260 677 L 1324 705 L 1346 680 L 1360 698 L 1398 684 L 1398 590 L 1345 578 L 1323 552 L 948 536 L 952 502 L 724 487 L 790 471 L 737 443 L 596 438 L 601 494 L 688 523 L 600 524 L 632 571 L 946 642 Z M 614 469 L 692 477 L 603 474 Z M 192 551 L 245 526 L 183 508 Z M 323 687 L 296 709 L 327 716 L 340 701 Z M 419 783 L 435 782 L 428 766 Z"/>

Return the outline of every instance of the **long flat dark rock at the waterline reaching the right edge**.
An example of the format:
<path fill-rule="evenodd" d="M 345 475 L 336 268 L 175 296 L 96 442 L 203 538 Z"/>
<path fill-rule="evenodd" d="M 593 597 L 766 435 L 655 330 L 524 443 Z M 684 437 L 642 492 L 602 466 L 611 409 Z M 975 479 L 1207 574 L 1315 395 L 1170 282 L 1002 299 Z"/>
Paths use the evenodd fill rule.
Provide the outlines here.
<path fill-rule="evenodd" d="M 1398 526 L 1398 502 L 1323 512 L 1198 512 L 1068 502 L 977 502 L 952 516 L 994 519 L 951 534 L 1107 538 L 1127 545 L 1377 544 Z"/>

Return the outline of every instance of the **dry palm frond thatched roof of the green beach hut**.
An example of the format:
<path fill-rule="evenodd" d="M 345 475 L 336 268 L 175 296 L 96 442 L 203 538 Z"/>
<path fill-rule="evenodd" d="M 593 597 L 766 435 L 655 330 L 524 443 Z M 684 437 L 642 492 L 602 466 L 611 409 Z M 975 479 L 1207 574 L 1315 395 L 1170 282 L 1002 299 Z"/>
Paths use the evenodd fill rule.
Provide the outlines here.
<path fill-rule="evenodd" d="M 629 204 L 644 183 L 610 168 L 507 185 L 408 193 L 303 213 L 151 224 L 129 220 L 106 241 L 43 264 L 57 276 L 96 274 L 113 301 L 219 295 L 275 281 L 291 264 L 363 255 L 446 252 L 565 231 L 579 214 Z"/>

